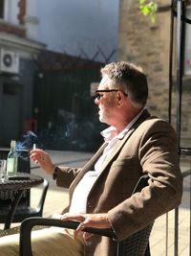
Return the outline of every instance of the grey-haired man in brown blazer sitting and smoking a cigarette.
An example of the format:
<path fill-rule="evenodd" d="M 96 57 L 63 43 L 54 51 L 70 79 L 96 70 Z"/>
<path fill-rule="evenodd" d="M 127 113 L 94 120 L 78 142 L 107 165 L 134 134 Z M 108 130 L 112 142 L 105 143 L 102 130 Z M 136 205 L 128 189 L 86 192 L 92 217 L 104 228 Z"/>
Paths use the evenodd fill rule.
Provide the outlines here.
<path fill-rule="evenodd" d="M 102 132 L 105 143 L 95 156 L 83 169 L 74 169 L 53 166 L 45 151 L 32 151 L 32 160 L 53 175 L 58 186 L 69 188 L 70 205 L 61 219 L 81 221 L 74 234 L 53 228 L 32 232 L 33 255 L 112 256 L 114 241 L 81 229 L 113 228 L 123 240 L 180 203 L 176 134 L 146 109 L 146 76 L 125 61 L 108 64 L 101 73 L 95 103 L 100 122 L 109 128 Z M 143 174 L 149 175 L 149 186 L 131 197 Z M 16 255 L 12 251 L 17 242 L 9 254 L 13 243 L 6 241 L 0 240 L 0 255 Z"/>

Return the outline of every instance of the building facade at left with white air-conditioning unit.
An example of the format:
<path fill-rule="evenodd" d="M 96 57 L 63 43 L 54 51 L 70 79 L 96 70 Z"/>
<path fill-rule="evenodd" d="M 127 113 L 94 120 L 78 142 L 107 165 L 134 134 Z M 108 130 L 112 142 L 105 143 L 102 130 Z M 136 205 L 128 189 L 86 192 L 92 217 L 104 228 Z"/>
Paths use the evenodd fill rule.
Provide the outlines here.
<path fill-rule="evenodd" d="M 26 1 L 0 4 L 0 146 L 22 136 L 32 118 L 34 59 L 45 45 L 27 37 Z"/>

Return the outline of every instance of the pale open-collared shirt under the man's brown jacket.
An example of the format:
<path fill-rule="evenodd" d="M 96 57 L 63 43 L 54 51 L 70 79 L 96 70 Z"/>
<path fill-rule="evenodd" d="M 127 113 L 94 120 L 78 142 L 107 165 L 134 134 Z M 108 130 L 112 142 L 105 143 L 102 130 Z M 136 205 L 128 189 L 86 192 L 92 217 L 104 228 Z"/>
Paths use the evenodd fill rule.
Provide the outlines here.
<path fill-rule="evenodd" d="M 129 129 L 136 123 L 144 109 L 145 108 L 141 109 L 138 115 L 127 125 L 127 127 L 121 130 L 118 134 L 117 129 L 114 127 L 106 128 L 101 132 L 101 135 L 104 137 L 104 140 L 108 143 L 108 145 L 104 149 L 102 155 L 96 161 L 95 170 L 86 173 L 75 187 L 71 207 L 69 210 L 71 214 L 86 213 L 87 198 L 93 185 L 96 182 L 96 178 L 99 175 L 103 162 L 107 158 L 110 151 L 113 150 L 117 145 L 117 141 L 122 139 L 127 134 Z"/>

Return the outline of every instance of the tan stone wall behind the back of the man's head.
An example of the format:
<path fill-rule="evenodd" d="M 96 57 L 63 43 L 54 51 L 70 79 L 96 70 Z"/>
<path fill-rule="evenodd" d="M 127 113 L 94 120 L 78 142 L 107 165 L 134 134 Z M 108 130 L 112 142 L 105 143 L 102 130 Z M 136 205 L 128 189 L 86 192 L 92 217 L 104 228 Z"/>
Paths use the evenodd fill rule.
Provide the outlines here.
<path fill-rule="evenodd" d="M 160 0 L 159 6 L 169 6 L 171 1 Z M 118 60 L 128 60 L 140 65 L 149 81 L 149 110 L 168 120 L 169 102 L 169 49 L 170 49 L 170 9 L 157 13 L 157 21 L 152 24 L 148 17 L 138 10 L 138 0 L 120 0 L 118 25 Z M 176 46 L 174 47 L 176 49 Z M 174 54 L 175 55 L 175 54 Z M 174 57 L 176 77 L 176 57 Z M 191 87 L 191 86 L 190 86 Z M 176 89 L 172 95 L 172 121 L 176 128 Z M 183 147 L 191 145 L 191 88 L 187 86 L 182 95 L 181 137 Z M 189 118 L 187 118 L 189 117 Z"/>

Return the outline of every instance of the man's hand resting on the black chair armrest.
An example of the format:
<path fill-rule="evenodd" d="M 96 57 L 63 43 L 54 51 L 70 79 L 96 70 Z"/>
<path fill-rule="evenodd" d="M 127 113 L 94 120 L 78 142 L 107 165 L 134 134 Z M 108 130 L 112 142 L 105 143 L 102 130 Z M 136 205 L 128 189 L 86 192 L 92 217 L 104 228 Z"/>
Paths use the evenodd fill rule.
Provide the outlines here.
<path fill-rule="evenodd" d="M 96 228 L 111 228 L 111 224 L 108 221 L 108 214 L 81 214 L 81 215 L 70 215 L 64 214 L 61 217 L 63 221 L 81 221 L 81 223 L 74 230 L 74 237 L 84 228 L 84 227 L 96 227 Z M 93 234 L 84 232 L 83 239 L 87 240 L 92 237 Z"/>

